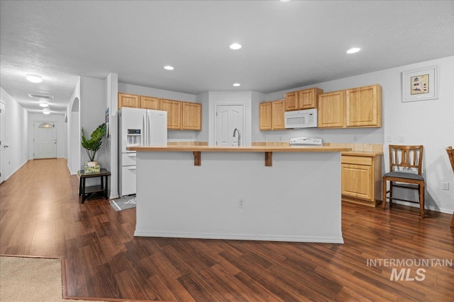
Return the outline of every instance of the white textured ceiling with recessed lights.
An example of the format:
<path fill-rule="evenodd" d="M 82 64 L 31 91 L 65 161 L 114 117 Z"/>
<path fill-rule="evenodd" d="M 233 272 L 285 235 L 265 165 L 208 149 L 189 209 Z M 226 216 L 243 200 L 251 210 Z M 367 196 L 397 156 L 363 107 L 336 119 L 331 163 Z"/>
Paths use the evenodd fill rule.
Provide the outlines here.
<path fill-rule="evenodd" d="M 271 93 L 454 54 L 454 1 L 1 0 L 0 11 L 0 85 L 30 112 L 28 93 L 65 112 L 78 76 Z"/>

